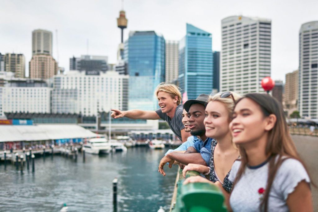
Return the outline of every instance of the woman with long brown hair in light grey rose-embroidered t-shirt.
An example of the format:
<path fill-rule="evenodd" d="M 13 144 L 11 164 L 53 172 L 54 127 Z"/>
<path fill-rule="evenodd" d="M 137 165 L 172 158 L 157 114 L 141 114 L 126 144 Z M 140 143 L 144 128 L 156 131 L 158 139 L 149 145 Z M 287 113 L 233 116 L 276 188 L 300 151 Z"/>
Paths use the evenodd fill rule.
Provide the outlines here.
<path fill-rule="evenodd" d="M 277 100 L 246 94 L 230 129 L 241 156 L 229 175 L 233 211 L 313 211 L 310 177 Z"/>

